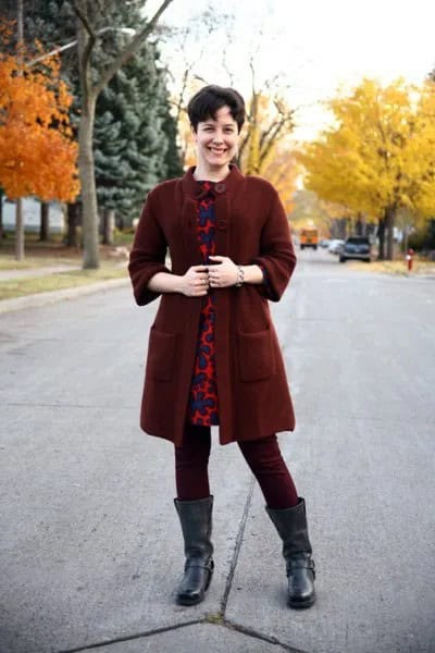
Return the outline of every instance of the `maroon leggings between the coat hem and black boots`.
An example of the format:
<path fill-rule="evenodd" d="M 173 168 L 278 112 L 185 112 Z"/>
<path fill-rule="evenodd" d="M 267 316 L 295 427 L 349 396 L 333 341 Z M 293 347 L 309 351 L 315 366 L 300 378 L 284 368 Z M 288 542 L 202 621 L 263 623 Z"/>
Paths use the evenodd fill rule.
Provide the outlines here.
<path fill-rule="evenodd" d="M 274 509 L 296 506 L 298 493 L 281 455 L 276 435 L 239 442 L 238 446 L 260 484 L 268 506 Z M 187 424 L 183 445 L 175 447 L 175 479 L 179 501 L 210 496 L 210 428 Z"/>

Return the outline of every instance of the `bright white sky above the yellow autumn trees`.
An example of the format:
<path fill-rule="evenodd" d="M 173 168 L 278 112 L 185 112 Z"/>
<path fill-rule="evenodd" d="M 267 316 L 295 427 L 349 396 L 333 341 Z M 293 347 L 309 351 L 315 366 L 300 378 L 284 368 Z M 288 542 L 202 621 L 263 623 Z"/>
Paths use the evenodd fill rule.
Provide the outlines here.
<path fill-rule="evenodd" d="M 221 2 L 211 7 L 217 14 L 233 14 L 233 20 L 216 20 L 210 35 L 195 36 L 195 17 L 210 4 L 173 0 L 162 17 L 167 25 L 191 26 L 184 57 L 194 61 L 192 74 L 207 83 L 233 83 L 247 96 L 253 54 L 256 85 L 275 79 L 274 86 L 285 88 L 297 108 L 298 139 L 313 138 L 327 125 L 323 101 L 338 88 L 350 89 L 364 76 L 420 83 L 435 67 L 434 0 Z M 147 0 L 147 13 L 158 5 L 159 0 Z M 162 54 L 176 88 L 183 56 L 170 41 L 162 46 Z"/>

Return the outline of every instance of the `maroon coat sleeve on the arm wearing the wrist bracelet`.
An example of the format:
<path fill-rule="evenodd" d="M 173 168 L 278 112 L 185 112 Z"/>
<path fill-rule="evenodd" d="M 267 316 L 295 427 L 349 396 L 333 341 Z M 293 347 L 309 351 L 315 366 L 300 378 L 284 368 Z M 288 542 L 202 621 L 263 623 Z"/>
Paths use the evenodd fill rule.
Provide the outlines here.
<path fill-rule="evenodd" d="M 257 263 L 263 272 L 264 296 L 271 301 L 278 301 L 290 281 L 296 266 L 296 255 L 287 215 L 278 194 L 275 189 L 273 193 L 270 213 L 261 233 L 260 256 L 252 262 Z"/>

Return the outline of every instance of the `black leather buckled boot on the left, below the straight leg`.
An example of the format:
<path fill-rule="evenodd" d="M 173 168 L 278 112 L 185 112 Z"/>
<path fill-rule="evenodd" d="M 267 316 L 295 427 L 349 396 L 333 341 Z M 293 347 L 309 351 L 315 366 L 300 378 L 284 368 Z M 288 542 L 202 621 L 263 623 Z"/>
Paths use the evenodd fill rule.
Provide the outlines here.
<path fill-rule="evenodd" d="M 213 575 L 211 543 L 213 497 L 198 501 L 174 500 L 182 522 L 186 563 L 177 591 L 177 603 L 196 605 L 204 597 Z"/>

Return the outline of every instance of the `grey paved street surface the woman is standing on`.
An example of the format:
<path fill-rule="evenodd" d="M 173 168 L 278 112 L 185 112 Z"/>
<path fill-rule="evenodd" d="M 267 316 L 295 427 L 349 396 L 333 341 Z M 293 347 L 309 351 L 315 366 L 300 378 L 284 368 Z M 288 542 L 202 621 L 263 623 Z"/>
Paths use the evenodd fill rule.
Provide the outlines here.
<path fill-rule="evenodd" d="M 197 607 L 173 452 L 138 428 L 156 306 L 99 291 L 0 316 L 0 653 L 435 652 L 435 282 L 303 251 L 273 307 L 318 603 L 286 607 L 279 541 L 214 442 L 216 571 Z"/>

